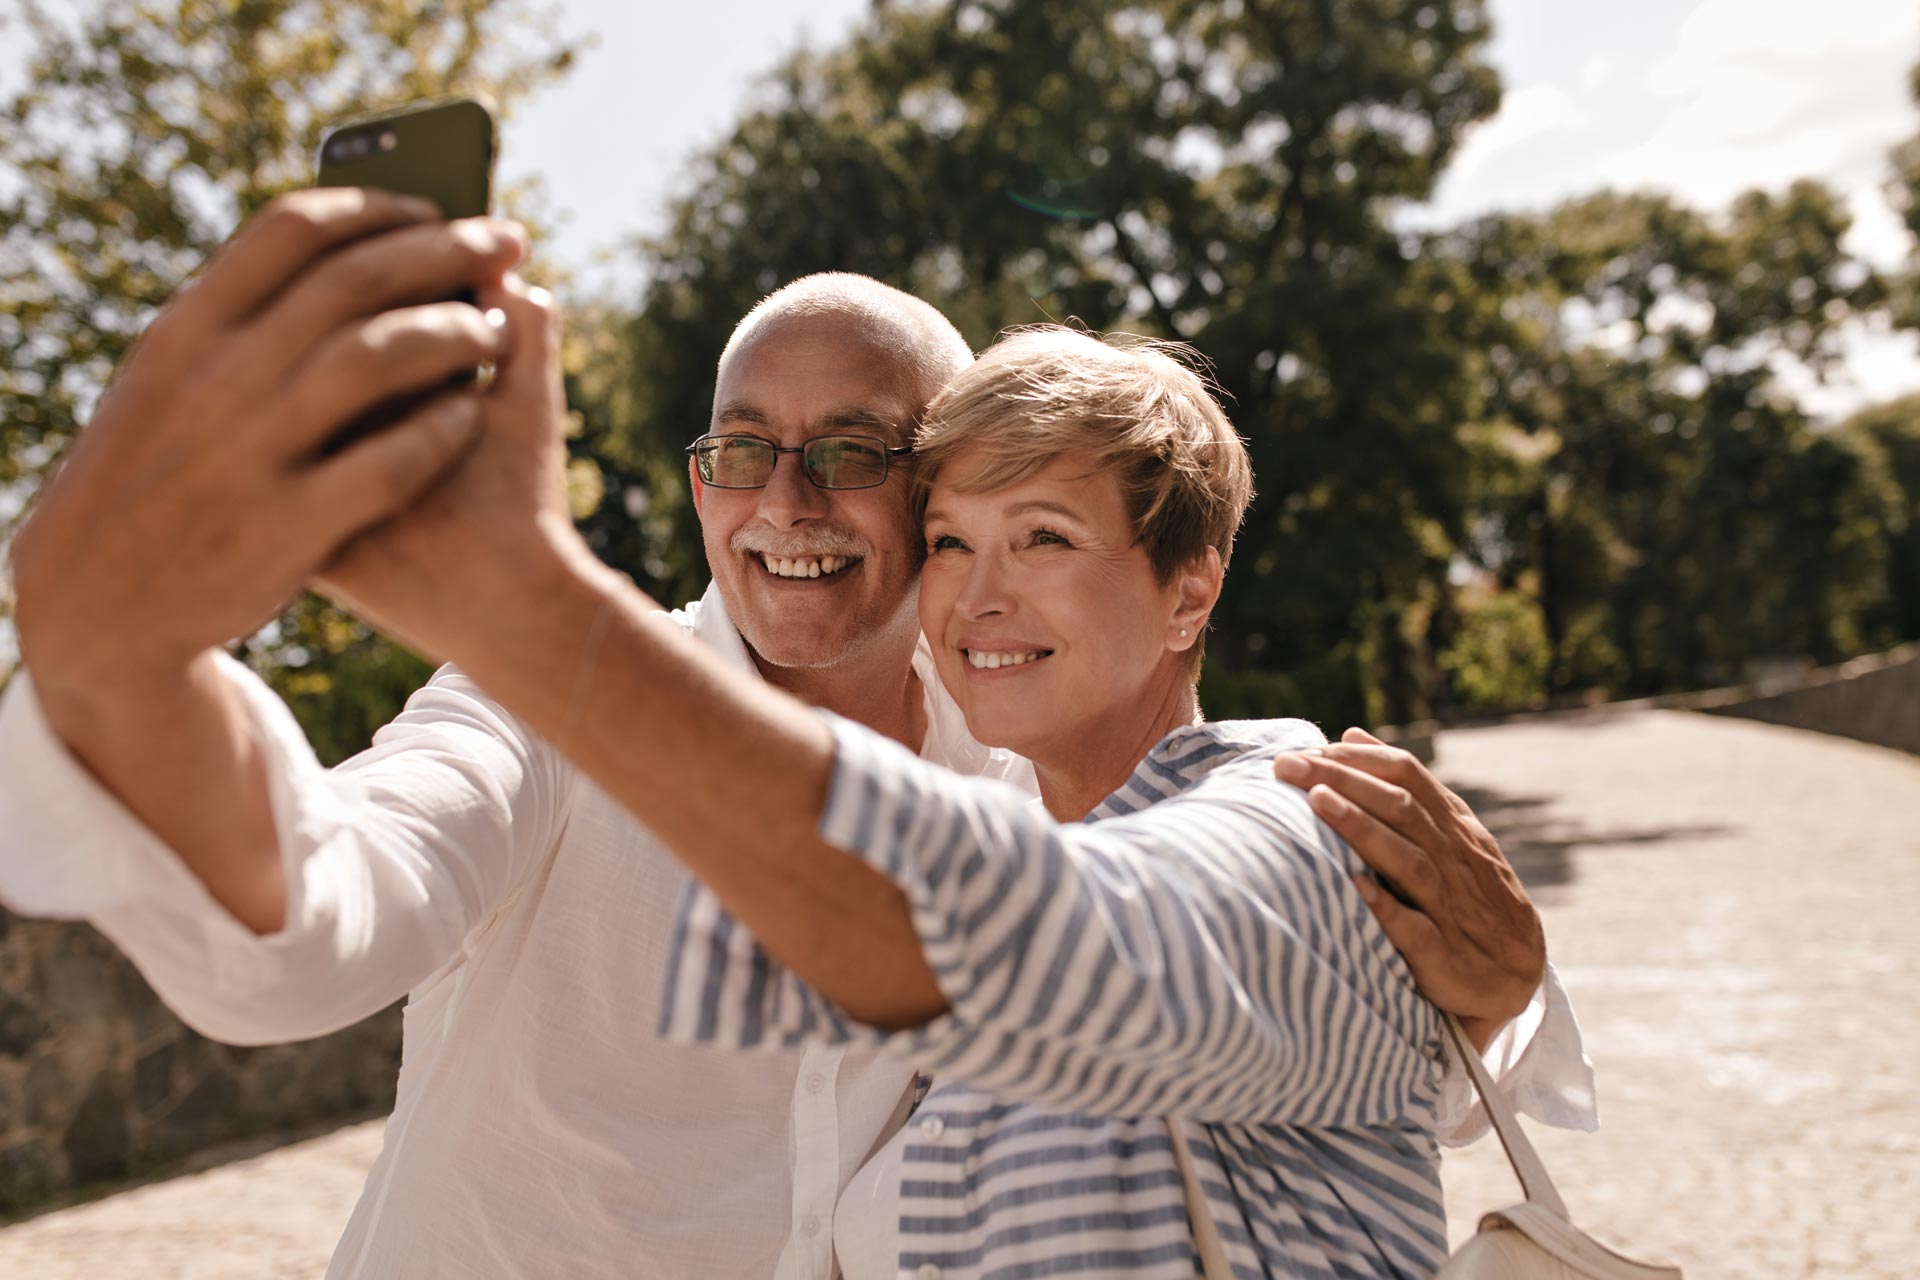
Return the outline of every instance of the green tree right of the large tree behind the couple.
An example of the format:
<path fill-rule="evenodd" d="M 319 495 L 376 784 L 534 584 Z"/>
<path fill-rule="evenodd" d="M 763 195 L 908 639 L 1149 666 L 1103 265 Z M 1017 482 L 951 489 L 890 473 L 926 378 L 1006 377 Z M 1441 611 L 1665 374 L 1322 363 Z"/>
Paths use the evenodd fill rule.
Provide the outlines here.
<path fill-rule="evenodd" d="M 1880 551 L 1857 455 L 1778 382 L 1885 303 L 1824 186 L 1724 217 L 1603 192 L 1428 251 L 1471 286 L 1484 451 L 1469 551 L 1540 601 L 1549 687 L 1736 677 L 1864 643 Z"/>

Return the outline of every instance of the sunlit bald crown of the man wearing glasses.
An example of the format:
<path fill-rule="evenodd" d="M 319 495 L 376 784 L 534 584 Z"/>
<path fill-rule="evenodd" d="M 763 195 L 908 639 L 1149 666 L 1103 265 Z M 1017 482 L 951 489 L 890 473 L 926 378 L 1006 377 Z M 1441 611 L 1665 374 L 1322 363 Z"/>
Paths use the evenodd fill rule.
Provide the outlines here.
<path fill-rule="evenodd" d="M 858 332 L 899 365 L 906 382 L 902 391 L 922 407 L 973 363 L 966 338 L 935 307 L 872 276 L 822 271 L 768 294 L 747 313 L 720 353 L 714 386 L 728 382 L 732 365 L 756 342 L 806 320 L 829 320 Z"/>

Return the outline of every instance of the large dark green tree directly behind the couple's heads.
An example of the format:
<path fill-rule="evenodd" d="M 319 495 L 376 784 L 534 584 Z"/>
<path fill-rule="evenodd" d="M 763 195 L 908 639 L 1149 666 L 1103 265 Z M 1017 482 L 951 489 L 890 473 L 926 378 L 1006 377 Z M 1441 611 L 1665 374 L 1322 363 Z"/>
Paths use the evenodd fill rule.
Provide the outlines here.
<path fill-rule="evenodd" d="M 1208 700 L 1417 714 L 1407 618 L 1465 526 L 1473 386 L 1388 217 L 1498 106 L 1486 36 L 1478 0 L 877 4 L 695 159 L 645 249 L 639 391 L 609 436 L 672 457 L 730 326 L 808 271 L 879 276 L 975 344 L 1069 317 L 1185 338 L 1261 476 Z M 659 568 L 697 589 L 678 470 L 641 484 L 678 532 Z"/>

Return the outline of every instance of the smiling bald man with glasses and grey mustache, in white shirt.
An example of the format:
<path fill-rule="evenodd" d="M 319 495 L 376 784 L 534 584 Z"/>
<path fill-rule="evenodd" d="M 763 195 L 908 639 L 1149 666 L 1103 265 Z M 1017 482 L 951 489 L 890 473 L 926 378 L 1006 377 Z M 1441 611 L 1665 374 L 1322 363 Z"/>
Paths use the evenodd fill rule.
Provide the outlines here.
<path fill-rule="evenodd" d="M 685 873 L 589 762 L 624 735 L 701 727 L 597 714 L 582 674 L 612 614 L 576 651 L 534 626 L 553 603 L 515 557 L 566 516 L 553 313 L 509 274 L 522 253 L 509 225 L 303 192 L 161 313 L 15 539 L 25 672 L 0 704 L 0 900 L 94 921 L 221 1040 L 323 1034 L 409 996 L 384 1150 L 328 1276 L 824 1278 L 835 1199 L 904 1113 L 912 1071 L 653 1036 Z M 480 307 L 432 301 L 459 288 Z M 931 307 L 854 276 L 749 315 L 714 430 L 785 453 L 758 489 L 695 478 L 714 587 L 674 616 L 743 679 L 1029 781 L 966 735 L 914 622 L 906 432 L 968 359 Z M 340 443 L 371 407 L 482 361 L 490 386 Z M 820 443 L 849 434 L 883 441 L 877 474 Z M 405 599 L 424 622 L 401 637 L 422 652 L 484 631 L 476 674 L 538 706 L 543 735 L 444 668 L 369 752 L 321 770 L 219 649 L 313 581 L 376 622 Z M 1377 748 L 1346 764 L 1405 768 Z M 1315 768 L 1379 804 L 1367 773 Z M 1338 825 L 1361 850 L 1398 839 L 1357 810 Z M 1498 850 L 1442 829 L 1436 883 L 1501 908 L 1428 902 L 1440 944 L 1396 938 L 1430 988 L 1469 992 L 1450 1004 L 1484 1038 L 1530 992 L 1540 1011 L 1544 946 Z M 1509 1080 L 1580 1075 L 1571 1017 L 1548 1019 Z"/>

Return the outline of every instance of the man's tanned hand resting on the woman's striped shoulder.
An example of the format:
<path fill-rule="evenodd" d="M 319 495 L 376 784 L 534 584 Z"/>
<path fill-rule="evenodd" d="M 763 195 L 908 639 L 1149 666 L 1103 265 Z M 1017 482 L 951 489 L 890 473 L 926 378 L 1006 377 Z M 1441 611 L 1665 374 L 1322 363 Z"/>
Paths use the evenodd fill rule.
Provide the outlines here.
<path fill-rule="evenodd" d="M 1306 791 L 1373 867 L 1380 883 L 1356 877 L 1361 898 L 1427 998 L 1484 1048 L 1526 1007 L 1548 963 L 1540 913 L 1500 841 L 1427 766 L 1363 729 L 1279 756 L 1273 775 Z"/>

